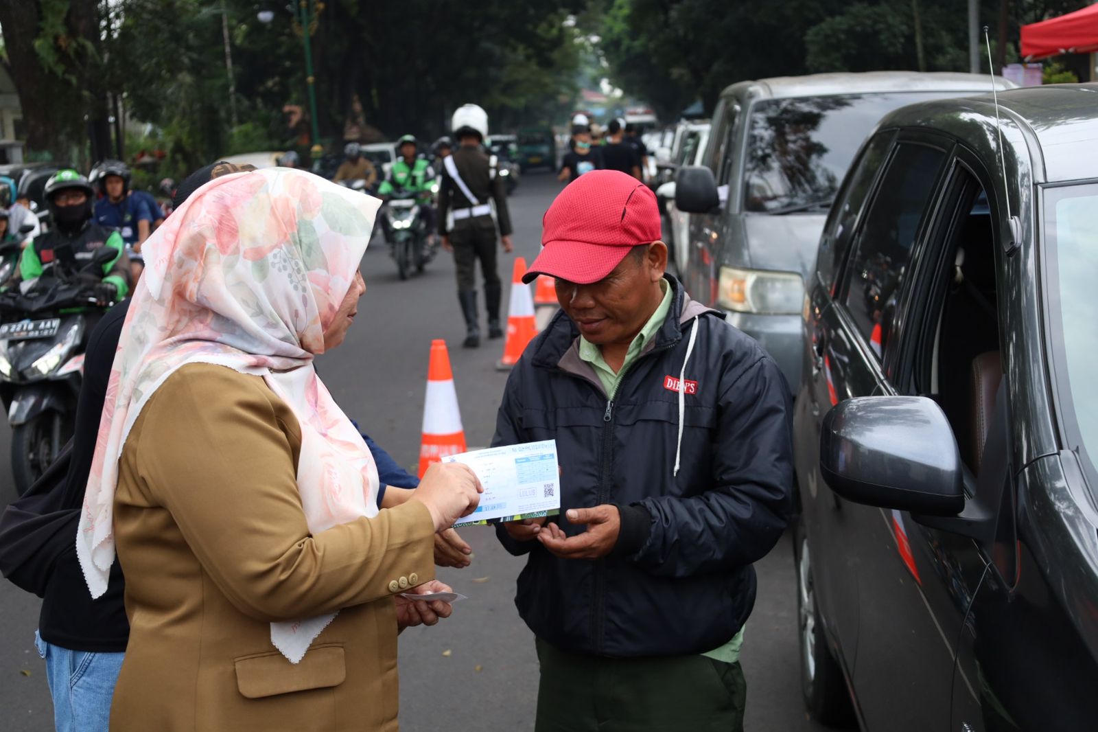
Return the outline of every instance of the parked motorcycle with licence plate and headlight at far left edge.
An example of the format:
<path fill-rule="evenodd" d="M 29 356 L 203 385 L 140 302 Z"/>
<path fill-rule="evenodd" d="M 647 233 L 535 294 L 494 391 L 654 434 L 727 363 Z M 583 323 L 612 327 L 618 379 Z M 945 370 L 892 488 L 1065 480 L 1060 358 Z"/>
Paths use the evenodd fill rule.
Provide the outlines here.
<path fill-rule="evenodd" d="M 8 411 L 11 469 L 22 495 L 72 436 L 83 348 L 98 308 L 93 271 L 114 258 L 103 247 L 79 270 L 60 263 L 25 291 L 0 292 L 0 400 Z M 74 312 L 78 310 L 78 312 Z"/>

